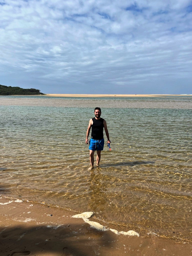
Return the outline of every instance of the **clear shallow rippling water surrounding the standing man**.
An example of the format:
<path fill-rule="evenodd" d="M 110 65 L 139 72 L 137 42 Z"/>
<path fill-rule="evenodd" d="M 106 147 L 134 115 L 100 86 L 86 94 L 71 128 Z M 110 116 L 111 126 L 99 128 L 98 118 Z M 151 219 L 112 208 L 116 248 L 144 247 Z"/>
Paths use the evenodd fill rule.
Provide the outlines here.
<path fill-rule="evenodd" d="M 105 145 L 101 166 L 89 171 L 85 139 L 95 106 L 112 150 Z M 0 96 L 0 194 L 192 242 L 191 106 L 188 96 Z"/>

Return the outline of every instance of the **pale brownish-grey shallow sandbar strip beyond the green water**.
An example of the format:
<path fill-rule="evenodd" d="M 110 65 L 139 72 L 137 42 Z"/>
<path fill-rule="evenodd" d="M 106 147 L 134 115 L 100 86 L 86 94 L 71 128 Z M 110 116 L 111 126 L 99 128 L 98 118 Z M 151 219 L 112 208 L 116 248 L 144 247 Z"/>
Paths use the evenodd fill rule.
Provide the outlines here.
<path fill-rule="evenodd" d="M 49 96 L 52 96 L 55 94 L 49 94 Z M 59 95 L 59 94 L 58 94 Z M 61 97 L 63 97 L 60 94 Z M 139 102 L 137 100 L 114 100 L 113 99 L 102 99 L 98 102 L 98 98 L 92 97 L 91 101 L 90 99 L 87 99 L 85 96 L 84 98 L 81 98 L 82 100 L 77 100 L 73 96 L 70 100 L 67 99 L 67 94 L 65 94 L 66 98 L 60 98 L 60 97 L 24 97 L 22 98 L 4 98 L 0 101 L 0 105 L 8 106 L 8 105 L 15 105 L 15 106 L 49 106 L 49 107 L 74 107 L 74 108 L 90 108 L 90 105 L 92 108 L 95 108 L 99 104 L 100 108 L 159 108 L 159 109 L 192 109 L 192 101 L 189 99 L 187 101 L 179 100 L 176 101 L 173 97 L 173 100 L 165 100 L 161 97 L 158 99 L 162 100 L 151 100 L 150 97 L 148 97 L 149 100 L 144 100 L 142 98 L 137 98 L 137 100 L 141 99 Z M 69 94 L 68 94 L 69 95 Z M 72 94 L 70 94 L 72 95 Z M 25 95 L 26 96 L 26 95 Z M 32 95 L 31 95 L 32 96 Z M 46 96 L 46 95 L 44 95 Z M 98 96 L 97 96 L 98 97 Z M 102 96 L 101 96 L 102 97 Z M 110 96 L 111 97 L 111 96 Z M 127 96 L 128 97 L 128 96 Z M 152 96 L 151 96 L 152 97 Z M 134 98 L 134 97 L 133 97 Z M 190 98 L 190 97 L 189 97 Z M 59 100 L 60 99 L 60 100 Z M 186 99 L 188 99 L 186 97 Z"/>

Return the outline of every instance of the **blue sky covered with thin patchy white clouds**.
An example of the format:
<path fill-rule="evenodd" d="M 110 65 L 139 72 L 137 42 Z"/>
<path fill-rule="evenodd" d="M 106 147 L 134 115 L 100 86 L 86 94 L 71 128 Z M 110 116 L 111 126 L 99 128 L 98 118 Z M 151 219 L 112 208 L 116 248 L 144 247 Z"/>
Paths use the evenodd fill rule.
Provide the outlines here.
<path fill-rule="evenodd" d="M 0 0 L 0 84 L 192 94 L 192 1 Z"/>

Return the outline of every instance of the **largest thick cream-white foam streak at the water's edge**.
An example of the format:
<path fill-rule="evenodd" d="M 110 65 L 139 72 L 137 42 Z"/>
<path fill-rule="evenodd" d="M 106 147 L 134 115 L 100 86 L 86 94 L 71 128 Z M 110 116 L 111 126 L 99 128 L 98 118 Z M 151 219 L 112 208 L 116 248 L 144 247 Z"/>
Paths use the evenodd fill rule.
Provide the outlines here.
<path fill-rule="evenodd" d="M 92 212 L 92 211 L 87 211 L 87 212 L 83 212 L 81 214 L 73 215 L 72 218 L 82 218 L 84 220 L 84 222 L 86 222 L 86 223 L 88 223 L 90 225 L 91 228 L 95 228 L 95 229 L 97 229 L 99 231 L 110 230 L 113 233 L 118 234 L 118 235 L 119 234 L 123 234 L 124 236 L 128 235 L 128 236 L 138 236 L 139 237 L 139 234 L 137 232 L 133 231 L 133 230 L 129 230 L 127 232 L 125 232 L 125 231 L 117 231 L 115 229 L 106 228 L 106 227 L 104 227 L 103 225 L 101 225 L 98 222 L 88 220 L 93 215 L 93 213 L 94 212 Z"/>

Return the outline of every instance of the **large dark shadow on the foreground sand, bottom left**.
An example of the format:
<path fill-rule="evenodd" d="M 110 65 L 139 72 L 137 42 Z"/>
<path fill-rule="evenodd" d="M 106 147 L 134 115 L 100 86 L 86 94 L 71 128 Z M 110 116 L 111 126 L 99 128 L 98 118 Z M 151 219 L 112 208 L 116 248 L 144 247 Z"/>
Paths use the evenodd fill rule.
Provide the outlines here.
<path fill-rule="evenodd" d="M 23 256 L 23 255 L 55 255 L 55 256 L 90 256 L 99 255 L 98 248 L 106 250 L 113 241 L 110 234 L 91 229 L 81 232 L 82 225 L 69 227 L 48 228 L 46 225 L 34 227 L 23 225 L 0 228 L 0 255 Z M 84 225 L 84 229 L 90 229 Z M 107 235 L 107 237 L 106 237 Z M 91 238 L 90 238 L 91 237 Z M 88 239 L 89 238 L 89 239 Z M 86 250 L 85 250 L 86 248 Z"/>

